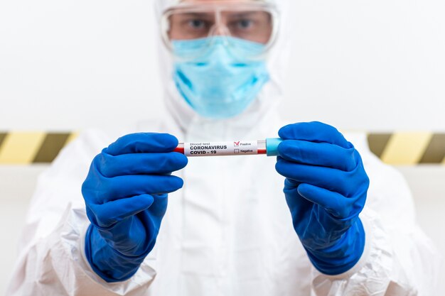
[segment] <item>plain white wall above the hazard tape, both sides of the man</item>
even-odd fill
[[[445,130],[445,1],[291,0],[289,121]],[[156,117],[152,1],[0,0],[0,129]]]

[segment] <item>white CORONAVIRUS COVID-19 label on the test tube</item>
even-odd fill
[[[258,142],[193,142],[184,143],[186,156],[222,156],[222,155],[254,155],[258,154]]]

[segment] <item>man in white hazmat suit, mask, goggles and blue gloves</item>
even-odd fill
[[[436,253],[402,177],[364,136],[280,123],[284,3],[158,11],[168,116],[63,150],[8,295],[432,295]],[[173,152],[277,132],[276,159]]]

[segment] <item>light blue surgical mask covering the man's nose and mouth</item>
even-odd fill
[[[262,52],[261,43],[226,36],[176,40],[173,53],[179,60],[173,80],[182,97],[201,116],[232,117],[242,113],[269,80],[264,60],[249,58]]]

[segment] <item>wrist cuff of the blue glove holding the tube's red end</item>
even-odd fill
[[[85,257],[92,270],[108,283],[122,282],[131,278],[149,251],[139,256],[119,253],[109,246],[92,224],[85,234]]]

